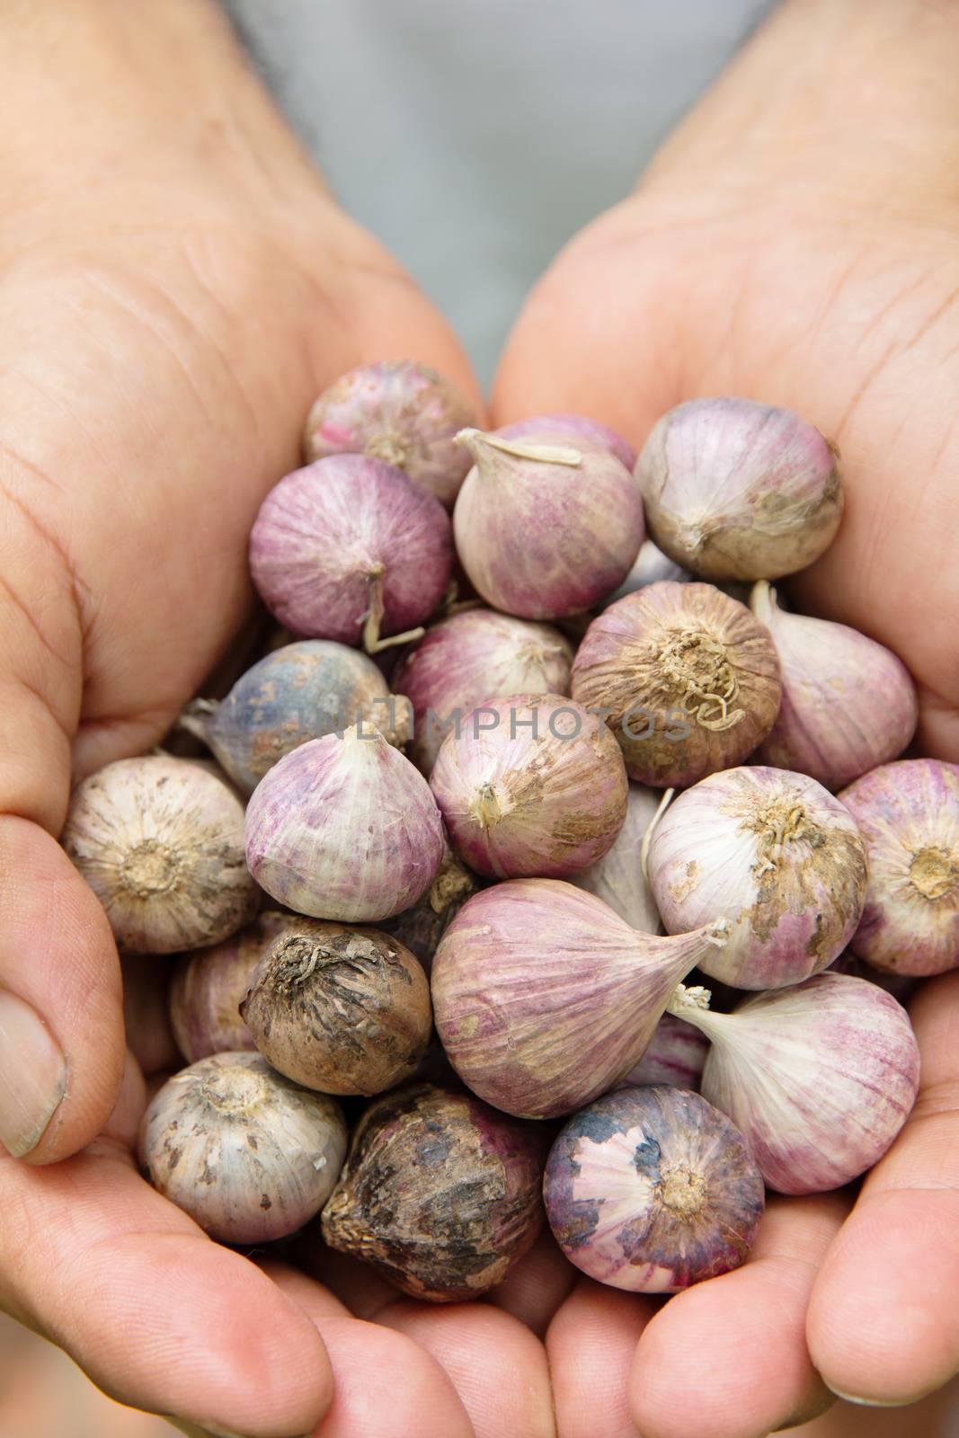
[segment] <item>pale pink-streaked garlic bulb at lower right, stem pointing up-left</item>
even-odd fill
[[[742,1130],[771,1188],[820,1194],[878,1162],[910,1114],[919,1045],[906,1009],[876,984],[817,974],[733,1014],[670,1004],[712,1048],[703,1094]]]

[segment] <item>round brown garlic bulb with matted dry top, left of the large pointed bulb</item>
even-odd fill
[[[279,1073],[321,1093],[382,1093],[433,1028],[421,963],[378,929],[300,919],[269,946],[240,1012]]]

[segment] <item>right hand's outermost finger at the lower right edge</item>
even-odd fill
[[[909,1403],[959,1369],[959,974],[912,1004],[916,1109],[873,1169],[812,1293],[809,1352],[830,1388]]]

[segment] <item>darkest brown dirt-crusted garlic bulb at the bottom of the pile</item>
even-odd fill
[[[354,1133],[324,1238],[416,1299],[476,1299],[542,1227],[546,1143],[543,1129],[456,1089],[390,1093]]]

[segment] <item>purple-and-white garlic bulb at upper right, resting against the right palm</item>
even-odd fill
[[[837,452],[791,410],[689,400],[653,427],[635,463],[659,548],[703,580],[805,569],[843,518]]]

